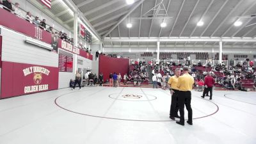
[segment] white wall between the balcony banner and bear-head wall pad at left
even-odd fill
[[[2,61],[58,67],[58,54],[25,42],[26,36],[1,28]]]

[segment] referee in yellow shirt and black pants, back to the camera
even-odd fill
[[[184,125],[184,104],[188,110],[188,124],[193,125],[192,122],[192,108],[191,108],[191,90],[194,84],[194,78],[188,73],[188,67],[183,67],[183,76],[178,78],[177,88],[179,88],[179,111],[180,111],[180,122],[177,124]]]

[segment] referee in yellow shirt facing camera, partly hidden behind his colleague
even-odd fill
[[[178,77],[180,76],[180,68],[175,69],[175,76],[172,76],[168,81],[168,86],[170,88],[170,92],[172,95],[172,102],[170,108],[170,118],[175,120],[176,118],[180,118],[178,115],[179,106],[178,106],[178,95],[179,95],[179,88],[177,88]]]

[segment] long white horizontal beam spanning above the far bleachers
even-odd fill
[[[185,38],[158,38],[158,37],[141,37],[140,39],[138,37],[105,37],[104,42],[256,42],[256,38],[211,38],[211,37],[204,37],[204,38],[198,38],[198,37],[185,37]]]

